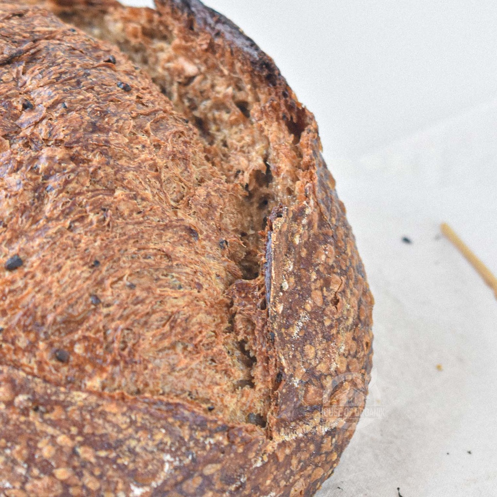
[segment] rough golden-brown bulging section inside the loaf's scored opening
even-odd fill
[[[3,70],[0,256],[24,264],[4,279],[3,354],[77,390],[194,399],[244,421],[258,409],[230,388],[251,377],[225,295],[242,276],[244,190],[144,73],[105,62],[113,47],[17,14],[3,25],[26,48]]]

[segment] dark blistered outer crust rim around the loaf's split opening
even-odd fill
[[[44,6],[59,15],[84,9],[88,18],[123,9],[111,1]],[[32,12],[1,7],[0,23],[16,8]],[[184,399],[78,390],[37,377],[2,348],[0,490],[8,497],[310,496],[331,475],[364,407],[373,299],[314,117],[272,60],[226,18],[194,0],[161,1],[158,11],[179,32],[207,35],[221,64],[250,73],[261,98],[254,120],[274,151],[273,175],[284,175],[278,165],[288,156],[282,126],[300,154],[294,196],[272,209],[263,234],[264,274],[235,278],[227,295],[254,324],[254,351],[271,354],[264,366],[271,383],[265,426],[230,422]],[[143,24],[146,16],[138,10],[136,16]],[[0,64],[13,57],[18,49],[3,49]],[[9,132],[3,127],[0,135]],[[8,152],[1,140],[0,164]],[[347,401],[352,414],[326,409]]]

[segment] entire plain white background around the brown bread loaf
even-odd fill
[[[497,301],[438,229],[497,272],[497,3],[206,3],[315,113],[376,298],[381,409],[318,496],[497,495]]]

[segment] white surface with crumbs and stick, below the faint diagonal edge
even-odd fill
[[[497,269],[496,118],[482,106],[340,166],[376,299],[368,405],[383,412],[320,497],[496,495],[497,301],[438,230],[449,221]]]

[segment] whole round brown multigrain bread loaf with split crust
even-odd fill
[[[1,493],[312,495],[373,304],[312,114],[196,0],[29,3],[0,1]]]

